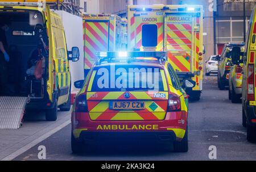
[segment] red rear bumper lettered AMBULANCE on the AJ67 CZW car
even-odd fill
[[[166,136],[169,138],[167,140],[182,140],[186,128],[185,111],[167,112],[164,120],[139,121],[93,121],[89,119],[88,113],[72,112],[72,132],[76,139],[93,135],[93,140],[98,140],[97,137],[101,138],[101,135],[108,133],[130,133],[129,135],[152,135],[158,139]]]

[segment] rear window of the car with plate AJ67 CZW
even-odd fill
[[[91,91],[167,91],[164,70],[154,66],[100,66],[93,73]]]

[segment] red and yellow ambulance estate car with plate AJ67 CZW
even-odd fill
[[[135,141],[135,136],[188,151],[188,95],[165,55],[100,53],[85,82],[76,82],[82,90],[72,111],[74,153],[113,138]],[[195,86],[192,80],[185,84]]]

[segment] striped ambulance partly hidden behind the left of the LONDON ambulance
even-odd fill
[[[96,52],[122,48],[121,18],[114,14],[83,14],[84,75],[97,61]]]

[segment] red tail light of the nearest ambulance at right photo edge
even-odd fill
[[[248,65],[247,99],[254,101],[254,64]]]

